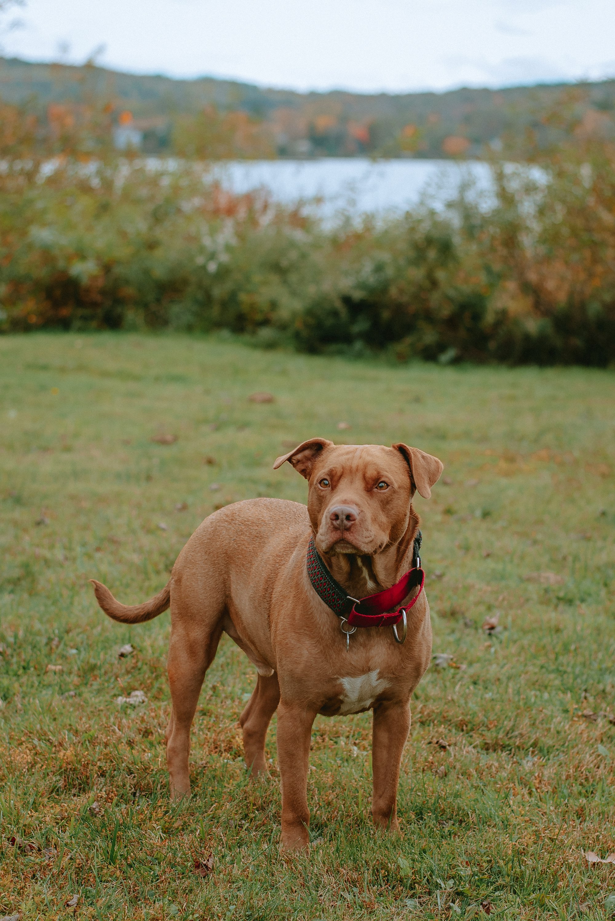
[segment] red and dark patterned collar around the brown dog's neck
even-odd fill
[[[420,547],[420,539],[416,543]],[[414,560],[417,565],[402,576],[400,581],[392,585],[390,589],[384,589],[384,591],[378,591],[376,595],[368,595],[366,598],[357,599],[351,598],[342,589],[340,583],[331,576],[329,569],[324,565],[316,549],[316,544],[312,537],[308,546],[309,580],[313,589],[325,604],[331,608],[331,611],[335,612],[342,620],[347,621],[352,627],[380,627],[387,624],[398,624],[404,612],[409,612],[416,604],[424,587],[425,574],[421,568],[416,543]],[[398,607],[412,589],[417,587],[419,590],[414,598],[403,607]],[[396,611],[390,610],[396,607]]]

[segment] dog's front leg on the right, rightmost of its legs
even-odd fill
[[[383,703],[374,707],[372,815],[374,822],[381,828],[399,828],[397,787],[400,782],[401,752],[409,732],[410,703]]]

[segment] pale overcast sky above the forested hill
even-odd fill
[[[16,17],[7,55],[137,74],[363,91],[615,76],[615,0],[26,0]]]

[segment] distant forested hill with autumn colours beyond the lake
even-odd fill
[[[104,101],[118,117],[132,112],[152,153],[172,149],[174,136],[197,136],[205,111],[210,121],[218,120],[218,133],[241,135],[245,149],[233,142],[239,156],[243,149],[246,156],[476,157],[486,145],[500,146],[508,135],[520,138],[528,128],[544,143],[561,139],[568,122],[552,117],[558,108],[574,118],[577,130],[580,124],[581,130],[607,135],[614,133],[615,113],[615,80],[446,93],[297,93],[212,77],[175,80],[6,58],[0,58],[0,96],[41,112],[50,104]],[[242,114],[224,122],[231,113]],[[203,134],[203,125],[199,130]]]

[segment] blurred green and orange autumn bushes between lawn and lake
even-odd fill
[[[104,109],[0,111],[0,328],[226,329],[400,361],[615,361],[615,146],[493,161],[493,192],[326,226],[201,161],[110,149]]]

